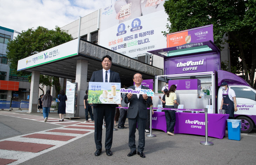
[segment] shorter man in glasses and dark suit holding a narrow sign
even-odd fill
[[[133,75],[133,81],[135,82],[134,86],[129,87],[128,89],[140,90],[140,89],[149,89],[141,85],[143,81],[143,76],[140,73],[136,73]],[[147,121],[147,105],[152,104],[152,99],[148,97],[146,94],[132,94],[129,93],[124,98],[125,103],[130,103],[128,108],[128,122],[129,122],[129,147],[130,153],[127,156],[133,156],[136,154],[136,145],[135,145],[135,132],[136,125],[138,125],[139,130],[139,145],[138,145],[138,155],[140,157],[145,158],[145,154],[143,153],[145,146],[145,129],[146,129],[146,121]]]

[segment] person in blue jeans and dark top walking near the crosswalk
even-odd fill
[[[50,106],[53,102],[53,97],[50,95],[50,90],[48,89],[46,91],[46,94],[41,98],[43,102],[43,118],[45,119],[45,122],[47,122]]]

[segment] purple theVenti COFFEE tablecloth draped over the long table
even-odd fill
[[[203,113],[176,112],[174,133],[188,133],[205,136],[205,115]],[[225,136],[228,114],[208,114],[208,136],[222,139]],[[152,128],[166,130],[164,112],[154,112]]]

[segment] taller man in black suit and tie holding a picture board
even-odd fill
[[[119,74],[110,70],[112,58],[109,55],[102,57],[102,70],[94,71],[90,82],[118,82],[121,83]],[[105,149],[108,156],[112,156],[111,146],[113,140],[114,117],[117,104],[92,104],[94,115],[94,140],[96,144],[95,156],[100,156],[102,151],[102,124],[105,117],[106,139]]]

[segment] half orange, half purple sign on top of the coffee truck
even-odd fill
[[[167,48],[210,40],[213,41],[213,25],[167,34]]]

